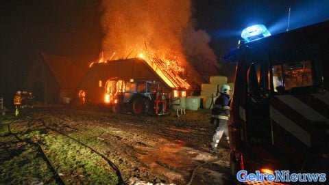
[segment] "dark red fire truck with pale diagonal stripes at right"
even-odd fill
[[[329,175],[329,21],[255,37],[236,62],[230,169]],[[252,38],[251,37],[251,38]]]

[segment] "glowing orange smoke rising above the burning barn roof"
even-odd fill
[[[103,0],[102,10],[106,59],[151,54],[190,76],[193,63],[217,63],[210,36],[195,30],[191,0]]]

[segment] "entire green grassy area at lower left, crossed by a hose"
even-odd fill
[[[18,150],[16,139],[8,135],[8,124],[0,124],[0,149],[4,143],[10,150]],[[30,130],[24,132],[23,127],[16,126],[15,132],[19,137],[42,143],[47,158],[53,163],[66,184],[118,184],[115,171],[97,154],[79,143],[52,132]],[[22,129],[23,128],[23,129]],[[23,134],[24,133],[24,134]],[[97,139],[83,139],[91,147],[101,145]],[[0,150],[0,154],[1,154]],[[56,184],[53,172],[47,163],[32,145],[21,146],[21,151],[11,154],[10,158],[0,155],[0,184]],[[97,150],[99,148],[97,147]],[[8,156],[8,155],[7,155]]]

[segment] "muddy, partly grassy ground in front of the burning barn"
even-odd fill
[[[108,110],[64,107],[21,111],[2,117],[0,184],[59,184],[56,173],[34,145],[39,143],[65,184],[117,184],[116,171],[95,152],[60,134],[86,143],[114,162],[127,184],[236,184],[229,175],[229,150],[209,152],[215,125],[208,111],[186,111],[175,117],[114,114]],[[52,128],[52,129],[50,129]],[[57,132],[58,130],[59,132]]]

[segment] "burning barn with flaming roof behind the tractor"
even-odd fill
[[[93,104],[106,102],[106,89],[114,79],[121,81],[156,81],[166,92],[173,89],[192,90],[195,81],[182,79],[179,72],[164,65],[160,59],[119,59],[91,63],[90,69],[77,87],[77,95]],[[197,74],[199,75],[199,74]],[[197,76],[202,79],[201,76]],[[202,80],[199,81],[202,83]]]

